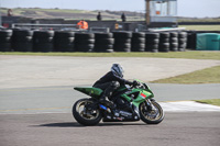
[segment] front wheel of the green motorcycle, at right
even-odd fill
[[[152,101],[152,110],[147,110],[146,104],[144,102],[141,103],[140,117],[147,124],[158,124],[164,120],[164,111],[156,101]]]

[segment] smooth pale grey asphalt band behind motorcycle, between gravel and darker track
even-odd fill
[[[148,83],[158,102],[219,99],[220,85]],[[68,113],[73,104],[88,96],[74,87],[0,89],[0,114]]]

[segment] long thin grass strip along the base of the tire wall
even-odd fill
[[[0,55],[32,55],[32,56],[75,56],[75,57],[157,57],[187,59],[218,59],[220,52],[169,52],[169,53],[19,53],[9,52]]]

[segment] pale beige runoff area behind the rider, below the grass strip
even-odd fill
[[[124,67],[125,79],[143,81],[220,65],[201,59],[0,55],[0,89],[92,85],[114,63]]]

